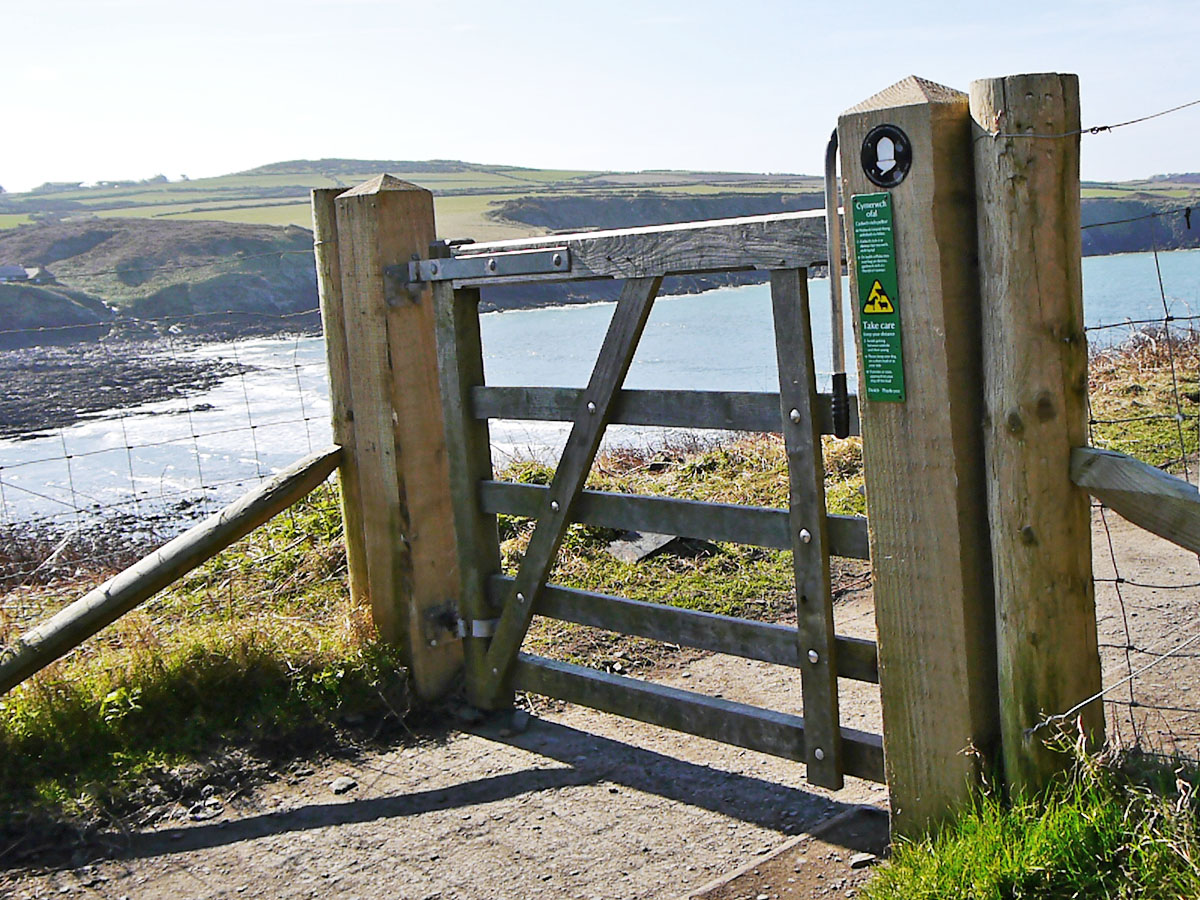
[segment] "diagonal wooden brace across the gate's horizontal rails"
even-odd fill
[[[538,516],[529,546],[521,560],[512,586],[512,598],[504,605],[496,635],[487,649],[487,667],[498,679],[503,679],[516,662],[521,642],[533,618],[538,592],[546,583],[546,576],[554,564],[566,526],[571,521],[571,508],[595,461],[613,401],[634,361],[637,342],[654,306],[654,295],[659,293],[661,284],[662,280],[656,277],[630,278],[617,300],[592,378],[580,400],[566,446],[563,448],[554,479],[545,494],[546,505]]]

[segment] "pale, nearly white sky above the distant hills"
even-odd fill
[[[1085,125],[1200,97],[1195,0],[0,0],[0,185],[298,157],[820,172],[907,74],[1075,72]],[[1200,107],[1086,137],[1085,179],[1200,170]]]

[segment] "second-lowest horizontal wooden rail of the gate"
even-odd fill
[[[500,602],[512,584],[505,575],[493,575],[488,593]],[[624,596],[547,584],[534,612],[560,622],[590,625],[652,641],[677,643],[697,650],[712,650],[742,659],[799,668],[797,630],[788,625],[752,622],[679,606],[649,604]],[[836,637],[838,676],[869,684],[880,683],[875,642],[860,637]]]

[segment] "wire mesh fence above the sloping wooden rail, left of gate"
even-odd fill
[[[257,336],[220,340],[238,320]],[[0,353],[0,643],[329,443],[318,322],[223,311]]]

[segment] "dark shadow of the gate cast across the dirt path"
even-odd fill
[[[499,737],[494,727],[467,730],[475,737],[556,760],[566,768],[527,768],[450,787],[374,797],[349,803],[226,820],[203,826],[106,835],[109,859],[173,856],[260,838],[461,809],[521,794],[608,782],[697,806],[780,833],[796,833],[857,804],[841,803],[764,779],[665,756],[565,725],[534,719],[528,731]],[[430,749],[427,752],[437,752]]]

